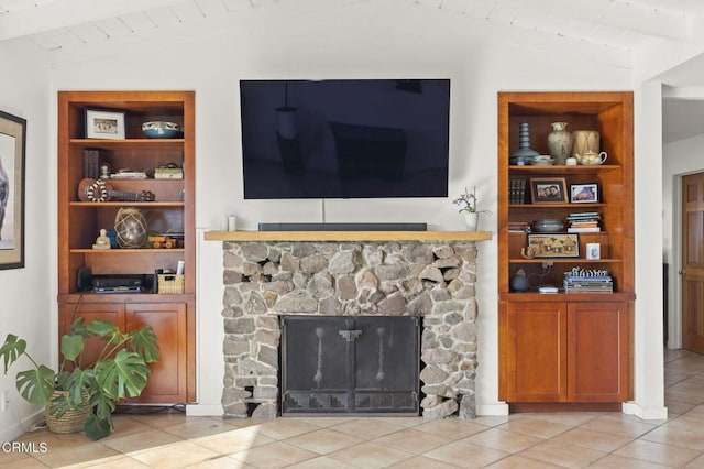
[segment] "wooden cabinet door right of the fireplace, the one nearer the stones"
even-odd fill
[[[562,302],[507,305],[506,401],[566,401],[566,318]]]

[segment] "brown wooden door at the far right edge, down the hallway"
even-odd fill
[[[682,347],[704,355],[704,173],[682,178]]]

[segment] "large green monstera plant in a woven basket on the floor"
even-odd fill
[[[88,340],[101,343],[95,359],[87,357]],[[74,320],[68,334],[62,337],[58,371],[37,363],[28,353],[26,341],[8,334],[0,348],[6,374],[22,356],[33,366],[16,374],[16,389],[22,397],[45,406],[50,429],[52,421],[61,423],[66,415],[85,418],[82,429],[94,440],[110,435],[116,403],[139,396],[151,373],[148,363],[160,360],[151,326],[123,332],[109,320],[94,319],[86,324],[85,318]],[[80,426],[57,432],[76,430]]]

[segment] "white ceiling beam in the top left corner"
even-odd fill
[[[0,14],[0,41],[194,0],[57,0]]]

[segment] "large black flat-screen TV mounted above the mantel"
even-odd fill
[[[241,80],[245,199],[447,197],[449,79]]]

